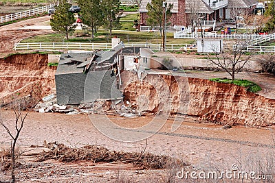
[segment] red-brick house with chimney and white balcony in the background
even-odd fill
[[[191,25],[190,16],[194,13],[202,14],[201,20],[205,21],[231,19],[230,9],[234,7],[243,8],[245,14],[252,14],[257,4],[256,0],[166,0],[166,2],[173,4],[170,26]],[[151,0],[141,0],[140,25],[146,25],[147,3],[151,3]]]

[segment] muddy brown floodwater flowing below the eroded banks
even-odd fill
[[[96,115],[96,114],[94,114]],[[2,111],[5,121],[12,123],[12,111]],[[145,125],[153,117],[122,118],[109,116],[109,119],[129,130]],[[104,123],[104,121],[102,121]],[[72,147],[83,145],[102,145],[117,151],[140,151],[146,145],[146,151],[153,154],[175,156],[192,164],[212,163],[217,166],[229,166],[236,163],[240,156],[245,159],[250,155],[274,150],[273,127],[252,128],[234,126],[223,129],[214,123],[197,123],[194,118],[187,117],[181,126],[171,132],[173,119],[168,119],[157,134],[146,141],[123,143],[114,141],[98,132],[89,117],[84,114],[41,114],[30,112],[19,138],[19,145],[43,145],[44,141],[64,143]],[[8,134],[0,128],[0,145],[10,143]]]

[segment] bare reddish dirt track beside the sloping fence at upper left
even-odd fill
[[[3,25],[0,27],[0,58],[6,56],[8,53],[14,53],[12,49],[14,48],[14,43],[20,42],[24,38],[29,38],[32,36],[37,36],[41,34],[52,33],[52,30],[43,29],[23,29],[22,27],[34,25],[42,21],[50,20],[50,16],[42,16],[35,19],[28,19],[25,21],[20,21],[18,23],[12,23],[10,25]]]

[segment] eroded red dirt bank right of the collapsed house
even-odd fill
[[[147,75],[144,82],[132,73],[124,78],[125,99],[141,110],[146,106],[148,112],[188,114],[230,125],[274,124],[275,99],[250,93],[241,86],[173,75]]]

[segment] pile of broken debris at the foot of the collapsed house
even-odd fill
[[[122,117],[137,117],[143,112],[137,110],[137,106],[126,101],[124,105],[121,99],[98,99],[91,103],[79,105],[58,105],[56,95],[52,94],[43,98],[41,103],[37,103],[34,111],[36,112],[61,112],[65,114],[120,114]]]

